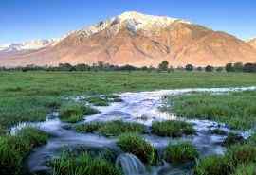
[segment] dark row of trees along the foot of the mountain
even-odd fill
[[[158,67],[155,68],[153,66],[143,66],[136,67],[132,65],[112,65],[109,63],[104,63],[99,61],[98,63],[94,63],[92,65],[80,63],[77,65],[71,65],[70,63],[60,63],[58,66],[37,66],[37,65],[27,65],[24,67],[0,67],[0,71],[157,71],[157,72],[173,72],[174,70],[185,70],[185,71],[205,71],[205,72],[248,72],[253,73],[256,72],[256,63],[245,63],[236,62],[236,63],[228,63],[225,67],[214,67],[211,65],[207,65],[205,67],[194,66],[192,64],[187,64],[185,67],[179,66],[174,68],[169,64],[168,61],[162,61],[159,63]]]

